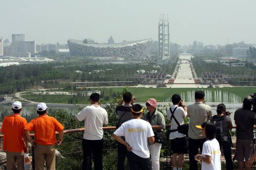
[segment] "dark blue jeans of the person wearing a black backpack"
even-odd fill
[[[231,139],[229,138],[228,141],[218,141],[220,144],[220,150],[223,148],[223,153],[226,160],[226,169],[233,170],[233,162],[231,157]]]

